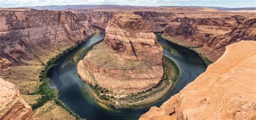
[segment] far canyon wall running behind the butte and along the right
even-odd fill
[[[113,15],[121,11],[99,10],[84,14],[91,25],[105,29]],[[223,55],[225,46],[256,39],[255,13],[203,8],[151,8],[130,12],[142,16],[153,32],[164,31],[165,39],[190,47],[212,62]]]

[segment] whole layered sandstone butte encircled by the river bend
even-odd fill
[[[155,86],[163,76],[163,48],[142,17],[117,13],[107,23],[104,43],[78,62],[86,83],[117,94],[131,94]]]

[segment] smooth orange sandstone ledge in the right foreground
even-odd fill
[[[228,45],[206,72],[143,119],[254,119],[256,41]]]

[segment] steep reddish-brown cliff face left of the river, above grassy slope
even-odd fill
[[[0,53],[17,65],[42,65],[95,33],[82,13],[0,10]]]

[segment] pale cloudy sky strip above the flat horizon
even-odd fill
[[[256,7],[256,0],[0,0],[0,6],[44,5],[134,5],[134,6],[221,6],[226,8]]]

